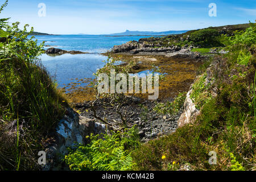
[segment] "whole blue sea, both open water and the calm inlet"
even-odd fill
[[[98,68],[104,67],[108,57],[101,55],[115,45],[120,45],[130,40],[139,40],[150,36],[105,36],[105,35],[37,35],[34,36],[38,44],[45,42],[44,49],[50,47],[66,51],[89,52],[86,54],[59,56],[40,56],[43,66],[57,82],[59,88],[84,78],[94,78],[93,73]],[[80,86],[86,86],[83,82]]]

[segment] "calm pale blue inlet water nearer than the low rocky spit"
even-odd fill
[[[46,54],[42,56],[42,64],[47,71],[56,79],[59,87],[64,87],[74,80],[82,78],[93,78],[93,73],[104,66],[103,60],[106,56],[100,54],[70,55],[51,57]],[[85,86],[82,83],[80,86]]]

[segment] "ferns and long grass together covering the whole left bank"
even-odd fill
[[[19,30],[8,20],[0,19],[0,170],[35,170],[36,151],[68,105],[40,64],[43,44],[28,39],[27,25]]]

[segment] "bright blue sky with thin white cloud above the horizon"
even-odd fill
[[[1,4],[4,2],[0,0]],[[46,5],[45,11],[40,3]],[[210,3],[216,4],[216,16],[209,16]],[[256,1],[9,0],[0,14],[0,18],[7,17],[11,18],[10,23],[30,24],[35,31],[48,34],[195,30],[254,22]]]

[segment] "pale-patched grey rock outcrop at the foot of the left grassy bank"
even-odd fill
[[[60,169],[61,159],[68,154],[67,147],[76,143],[87,144],[86,136],[106,133],[110,128],[93,119],[81,117],[73,109],[67,108],[64,118],[56,127],[55,137],[46,143],[47,164],[43,170]]]

